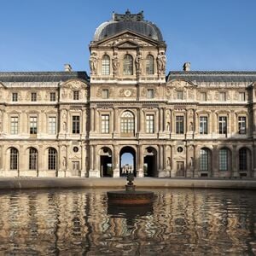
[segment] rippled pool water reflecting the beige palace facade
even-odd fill
[[[0,192],[0,255],[256,255],[255,190],[154,190],[148,207],[106,192]]]

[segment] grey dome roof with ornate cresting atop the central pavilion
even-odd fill
[[[117,15],[113,13],[112,20],[106,21],[97,27],[93,40],[99,41],[125,30],[137,32],[138,34],[152,38],[156,41],[163,41],[160,29],[152,22],[143,20],[143,12],[140,12],[137,15],[131,15],[129,10],[125,12],[125,15]]]

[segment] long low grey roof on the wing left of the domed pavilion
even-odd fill
[[[0,82],[65,82],[69,79],[84,79],[89,82],[86,72],[1,72]]]

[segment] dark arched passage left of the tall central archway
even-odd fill
[[[100,150],[101,157],[101,177],[113,177],[112,151],[103,147]]]

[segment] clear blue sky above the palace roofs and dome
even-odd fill
[[[167,71],[256,70],[255,0],[0,0],[0,72],[89,71],[88,45],[112,12],[144,11],[167,44]]]

